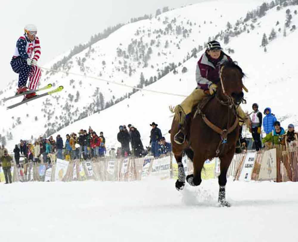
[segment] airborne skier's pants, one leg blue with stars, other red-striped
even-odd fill
[[[10,62],[15,73],[19,74],[18,87],[25,87],[29,77],[29,89],[35,90],[41,78],[41,69],[35,65],[27,65],[27,61],[21,57],[13,58]]]

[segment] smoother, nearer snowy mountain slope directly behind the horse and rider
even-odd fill
[[[292,11],[294,9],[295,7]],[[291,48],[290,54],[280,46],[291,46],[297,40],[298,32],[288,32],[286,37],[283,37],[283,34],[277,34],[277,38],[266,46],[266,53],[260,47],[263,33],[270,33],[277,19],[282,22],[283,18],[284,14],[278,16],[274,10],[268,12],[262,18],[264,27],[260,24],[259,29],[232,38],[225,48],[231,47],[235,50],[231,57],[238,61],[247,75],[244,84],[249,89],[249,93],[245,94],[247,104],[243,105],[243,109],[251,112],[251,106],[254,102],[259,104],[261,112],[269,106],[277,119],[281,121],[282,126],[286,128],[289,123],[298,126],[297,98],[295,95],[298,87],[295,77],[298,71],[294,61],[297,50]],[[296,17],[293,20],[293,24],[295,23],[298,24]],[[243,43],[245,44],[243,45]],[[171,72],[148,88],[188,95],[196,87],[195,67],[197,60],[198,58],[191,58],[176,68],[178,74],[175,75]],[[182,74],[181,70],[184,66],[187,67],[188,71]],[[145,91],[137,92],[130,99],[125,99],[99,114],[77,121],[71,128],[66,127],[58,133],[64,136],[66,133],[77,132],[90,125],[94,130],[105,133],[108,147],[117,147],[119,146],[117,142],[118,126],[131,123],[139,129],[143,143],[148,145],[149,123],[152,121],[158,123],[162,133],[167,134],[172,122],[168,106],[179,104],[182,100],[183,98],[179,96]],[[169,135],[166,138],[169,139]]]

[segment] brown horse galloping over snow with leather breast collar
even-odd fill
[[[185,185],[185,172],[182,164],[183,152],[193,161],[194,172],[186,177],[192,186],[201,184],[201,170],[207,159],[219,157],[221,174],[218,177],[221,206],[229,207],[225,199],[226,174],[232,161],[239,136],[237,105],[243,101],[242,83],[244,74],[235,62],[226,62],[221,66],[220,83],[215,95],[207,97],[193,108],[188,120],[188,140],[182,145],[174,142],[179,123],[174,118],[171,128],[173,153],[178,163],[176,189]]]

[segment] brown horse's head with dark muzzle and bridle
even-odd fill
[[[235,104],[240,104],[243,100],[242,78],[244,77],[242,69],[236,62],[226,61],[221,66],[220,78],[221,78],[221,94],[224,96],[230,96],[233,98]]]

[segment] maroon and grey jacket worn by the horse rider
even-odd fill
[[[198,88],[208,90],[211,84],[218,84],[220,65],[227,60],[232,61],[231,57],[224,54],[224,52],[222,53],[223,57],[216,66],[208,60],[206,53],[202,54],[195,70],[195,80],[198,83]]]

